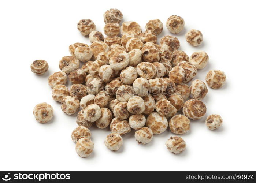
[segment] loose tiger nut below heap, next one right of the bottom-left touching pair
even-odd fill
[[[112,133],[105,138],[105,146],[110,150],[118,150],[123,145],[123,138],[121,135]]]

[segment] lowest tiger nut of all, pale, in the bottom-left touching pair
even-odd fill
[[[91,139],[81,138],[77,141],[77,144],[75,145],[75,151],[80,157],[84,158],[92,154],[93,147],[94,144]]]

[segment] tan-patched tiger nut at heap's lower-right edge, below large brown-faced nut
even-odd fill
[[[170,119],[169,127],[174,134],[185,134],[190,129],[190,120],[184,115],[175,115]]]

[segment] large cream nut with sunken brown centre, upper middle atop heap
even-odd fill
[[[109,62],[113,70],[122,70],[129,64],[130,58],[125,51],[119,51],[113,55]]]

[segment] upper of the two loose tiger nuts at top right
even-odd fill
[[[166,21],[166,27],[172,34],[180,33],[185,26],[183,18],[177,15],[170,16]]]

